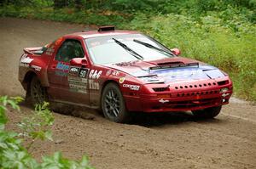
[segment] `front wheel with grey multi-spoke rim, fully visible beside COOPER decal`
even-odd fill
[[[124,123],[131,118],[130,113],[125,108],[125,101],[119,86],[115,83],[108,83],[102,93],[102,112],[110,121]]]

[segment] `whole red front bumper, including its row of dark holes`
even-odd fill
[[[201,84],[202,87],[196,88],[194,86],[184,88],[187,86],[179,84],[177,90],[169,92],[140,94],[139,96],[125,95],[126,108],[131,111],[168,112],[202,110],[229,103],[232,94],[230,80],[221,86],[217,82],[216,85],[207,87],[203,86],[205,82]],[[183,88],[180,88],[181,86]]]

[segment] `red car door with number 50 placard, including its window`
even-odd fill
[[[85,59],[82,44],[79,39],[65,39],[49,63],[49,87],[52,98],[57,101],[88,104],[88,69],[82,65],[70,65],[71,59]]]

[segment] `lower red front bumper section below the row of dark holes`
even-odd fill
[[[143,112],[170,112],[186,110],[202,110],[209,107],[216,107],[228,104],[232,91],[220,93],[219,90],[205,91],[198,93],[183,93],[177,97],[162,98],[158,95],[155,98],[125,96],[126,108],[130,111]],[[170,94],[172,96],[172,94]],[[163,95],[166,97],[166,94]]]

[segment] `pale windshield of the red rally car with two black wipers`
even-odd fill
[[[160,50],[156,50],[155,48],[149,48],[148,45],[143,45],[134,40],[148,43],[155,48],[166,51],[166,53],[160,52]],[[154,41],[151,37],[142,34],[92,37],[85,39],[85,43],[89,50],[90,58],[96,65],[129,62],[138,60],[139,58],[143,58],[143,60],[154,60],[172,57],[169,49],[165,48],[159,42]]]

